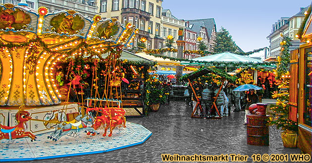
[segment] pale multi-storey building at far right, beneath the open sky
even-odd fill
[[[296,34],[298,33],[301,23],[304,20],[305,12],[308,8],[309,6],[301,7],[297,14],[292,17],[281,17],[280,20],[272,25],[271,34],[267,37],[270,40],[270,52],[266,58],[279,56],[281,50],[280,42],[283,39],[280,34],[283,34],[283,36],[287,36],[292,40],[291,46],[289,47],[290,51],[299,48],[301,43],[300,40],[296,38]]]

